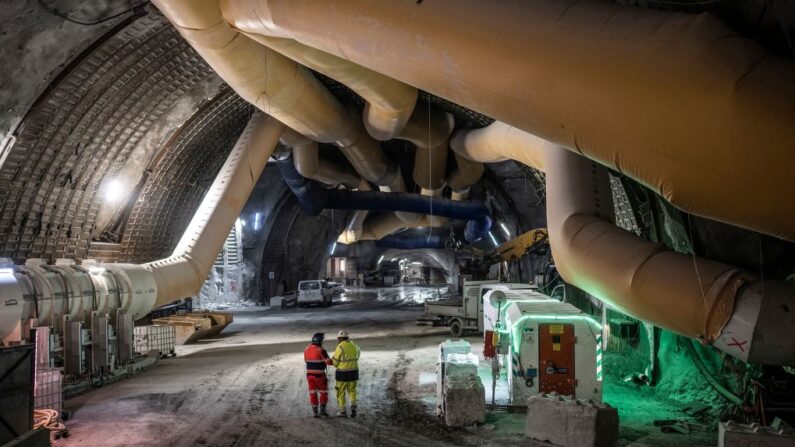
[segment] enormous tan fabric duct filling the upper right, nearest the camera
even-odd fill
[[[247,32],[532,132],[688,213],[795,241],[795,182],[782,181],[795,166],[795,62],[708,14],[581,0],[224,6]]]

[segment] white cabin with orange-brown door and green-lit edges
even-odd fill
[[[602,327],[576,307],[556,300],[509,302],[499,329],[510,364],[512,405],[556,392],[602,400]]]

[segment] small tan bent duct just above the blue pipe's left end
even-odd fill
[[[292,148],[295,169],[302,176],[328,185],[341,183],[349,189],[359,186],[361,178],[350,166],[338,165],[320,158],[317,142],[292,129],[285,130],[280,141]]]

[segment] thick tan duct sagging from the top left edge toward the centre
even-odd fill
[[[180,34],[243,99],[308,138],[336,143],[367,180],[403,191],[400,169],[306,68],[231,28],[219,0],[154,0]]]

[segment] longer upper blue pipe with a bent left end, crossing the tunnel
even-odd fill
[[[464,229],[464,237],[472,243],[486,237],[491,229],[489,209],[479,202],[426,197],[411,193],[323,189],[315,182],[304,178],[295,169],[292,156],[279,160],[277,166],[287,187],[310,216],[316,216],[324,209],[337,209],[402,211],[450,219],[466,219],[469,222]]]

